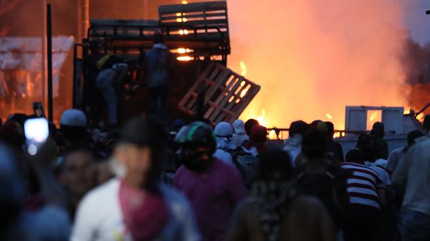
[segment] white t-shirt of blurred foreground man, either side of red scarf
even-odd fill
[[[113,178],[89,192],[78,206],[72,241],[133,240],[125,229],[119,204],[120,180]],[[160,186],[171,220],[156,240],[201,240],[187,199],[171,187]]]

